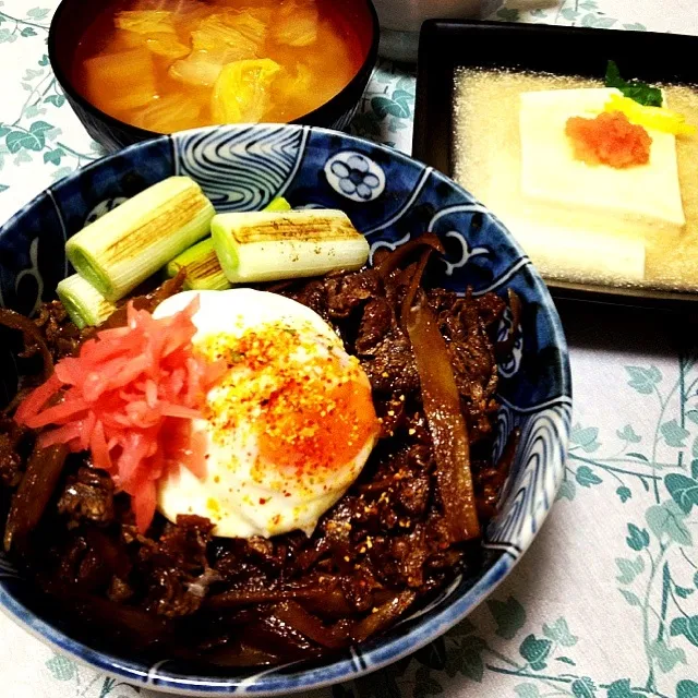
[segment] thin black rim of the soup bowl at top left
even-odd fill
[[[67,71],[63,71],[60,61],[58,60],[58,43],[59,43],[59,31],[58,23],[60,19],[63,16],[63,13],[69,12],[69,4],[73,0],[61,0],[58,8],[53,12],[51,17],[51,24],[48,29],[48,38],[47,38],[47,53],[49,64],[51,70],[53,71],[53,75],[58,81],[59,85],[65,93],[65,95],[76,103],[82,109],[84,109],[87,113],[89,113],[93,118],[98,118],[100,121],[104,121],[109,129],[119,129],[121,131],[131,132],[137,137],[139,142],[141,141],[149,141],[153,139],[157,139],[163,135],[172,135],[171,133],[159,133],[158,131],[151,131],[148,129],[143,129],[141,127],[136,127],[128,121],[121,121],[121,119],[117,119],[108,115],[106,111],[99,109],[96,105],[94,105],[89,99],[87,99],[74,85],[73,80],[68,74]],[[344,98],[347,93],[351,93],[353,89],[358,89],[359,86],[368,81],[373,72],[373,69],[376,64],[378,58],[378,44],[381,40],[381,25],[378,23],[378,13],[375,9],[375,4],[373,0],[352,0],[354,2],[362,2],[366,10],[369,11],[370,22],[371,22],[371,36],[370,36],[370,46],[366,51],[366,57],[364,61],[361,63],[353,77],[333,97],[330,97],[327,101],[322,105],[315,107],[312,111],[300,116],[298,119],[293,121],[282,122],[286,124],[303,124],[305,122],[315,123],[318,120],[322,121],[323,117],[326,112],[332,111],[338,104],[339,100]],[[237,125],[237,124],[209,124],[206,127],[200,127],[202,129],[210,129],[218,128],[221,125]],[[317,127],[321,128],[321,127]],[[195,129],[188,129],[195,130]],[[183,133],[183,131],[176,131],[174,133]]]

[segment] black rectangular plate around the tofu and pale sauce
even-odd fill
[[[412,156],[449,177],[458,68],[505,68],[603,79],[607,61],[646,82],[698,84],[698,37],[544,24],[430,20],[419,45]],[[485,202],[486,203],[486,202]],[[496,214],[496,210],[494,212]],[[556,298],[677,309],[698,289],[658,291],[547,281]]]

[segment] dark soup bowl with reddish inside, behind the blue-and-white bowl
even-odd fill
[[[172,4],[177,4],[171,0]],[[244,4],[244,3],[242,3]],[[167,3],[165,3],[165,8]],[[51,67],[65,93],[70,105],[89,133],[108,152],[146,141],[160,132],[134,125],[98,108],[80,88],[76,80],[80,50],[86,33],[96,22],[105,21],[105,13],[111,8],[130,9],[129,0],[63,0],[51,22],[48,36],[48,55]],[[342,0],[333,2],[336,25],[351,36],[354,50],[360,53],[360,63],[351,80],[326,103],[308,113],[290,121],[337,131],[346,130],[354,116],[361,96],[369,83],[378,52],[378,19],[371,0]],[[109,91],[109,84],[104,86]],[[184,85],[182,89],[186,89]],[[201,124],[192,123],[186,128]]]

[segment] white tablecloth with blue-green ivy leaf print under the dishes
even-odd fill
[[[0,1],[1,219],[99,157],[48,65],[58,0],[36,1]],[[496,19],[698,34],[698,0],[532,1],[509,0]],[[352,130],[409,151],[413,104],[412,73],[382,63]],[[313,698],[698,698],[696,327],[615,308],[561,312],[575,428],[559,501],[533,546],[445,637]],[[5,617],[0,695],[156,697],[55,654]]]

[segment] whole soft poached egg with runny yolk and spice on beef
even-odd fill
[[[377,440],[369,378],[320,315],[276,293],[184,291],[153,315],[177,313],[195,296],[194,348],[227,370],[193,424],[205,438],[206,474],[171,469],[158,508],[170,521],[206,517],[219,537],[310,535]]]

